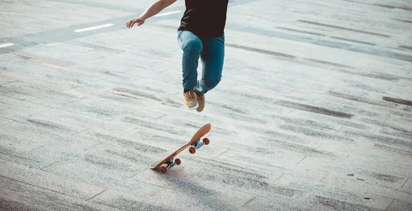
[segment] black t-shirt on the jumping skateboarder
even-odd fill
[[[186,10],[178,30],[199,37],[220,37],[226,25],[229,0],[185,0]]]

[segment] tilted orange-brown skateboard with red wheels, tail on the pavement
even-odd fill
[[[203,138],[202,141],[201,138],[205,136],[207,133],[209,133],[210,129],[211,125],[209,123],[203,125],[203,127],[201,127],[201,129],[198,129],[196,134],[193,135],[192,139],[190,139],[190,141],[187,142],[187,144],[183,145],[182,147],[171,153],[165,159],[151,164],[150,169],[157,169],[159,166],[165,164],[166,166],[161,166],[160,171],[161,173],[166,173],[168,169],[170,169],[175,164],[180,165],[181,160],[179,158],[174,159],[174,157],[177,156],[177,154],[181,153],[181,151],[185,150],[187,147],[190,147],[189,152],[191,154],[194,154],[196,153],[196,149],[199,149],[203,145],[209,145],[209,138]]]

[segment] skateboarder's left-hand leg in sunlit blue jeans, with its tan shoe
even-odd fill
[[[197,108],[198,102],[194,89],[196,89],[198,60],[203,51],[203,44],[196,35],[189,31],[179,31],[178,42],[183,50],[182,76],[185,105],[187,108]]]

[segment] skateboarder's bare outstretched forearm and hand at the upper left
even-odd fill
[[[158,14],[161,10],[163,10],[164,8],[167,8],[175,1],[177,0],[157,0],[155,1],[155,3],[152,3],[152,5],[150,5],[150,7],[146,9],[146,11],[144,11],[140,16],[127,21],[126,27],[131,28],[133,27],[133,25],[135,25],[135,23],[137,23],[137,26],[142,25],[147,18],[150,18],[151,16]]]

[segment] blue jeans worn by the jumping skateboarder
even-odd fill
[[[215,88],[222,77],[225,57],[225,35],[219,38],[199,38],[189,31],[178,31],[179,47],[183,50],[183,89],[196,87],[195,92],[204,94]],[[202,61],[202,77],[198,78],[198,60]]]

